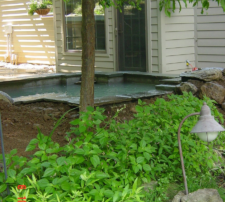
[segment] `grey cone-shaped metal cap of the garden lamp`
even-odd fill
[[[207,132],[219,132],[225,131],[225,129],[215,121],[214,117],[211,115],[210,108],[204,102],[199,121],[192,128],[191,133],[207,133]]]

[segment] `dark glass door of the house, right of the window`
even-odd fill
[[[118,11],[119,71],[146,72],[145,1],[141,10],[125,4]]]

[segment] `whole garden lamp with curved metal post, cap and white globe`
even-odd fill
[[[183,154],[182,154],[182,148],[181,148],[181,141],[180,141],[180,130],[184,123],[184,121],[190,117],[200,115],[198,123],[193,127],[191,130],[191,133],[197,133],[198,137],[206,142],[211,142],[214,139],[216,139],[218,133],[220,131],[225,131],[225,129],[218,124],[214,117],[211,116],[211,111],[208,105],[204,102],[201,112],[196,112],[187,115],[180,123],[178,128],[178,144],[179,144],[179,152],[180,152],[180,161],[181,161],[181,167],[183,172],[183,179],[184,179],[184,187],[185,187],[185,193],[188,194],[188,187],[187,187],[187,180],[186,180],[186,174],[184,169],[184,160],[183,160]]]

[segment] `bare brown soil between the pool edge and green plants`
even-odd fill
[[[167,96],[155,96],[144,101],[154,103],[157,97],[168,99]],[[130,120],[135,113],[136,102],[126,102],[117,105],[103,106],[105,115],[111,118],[117,111],[126,105],[126,108],[119,114],[118,120]],[[23,105],[11,105],[5,101],[0,101],[0,112],[2,121],[2,131],[4,138],[5,153],[9,153],[12,149],[17,149],[19,156],[29,156],[34,151],[25,152],[30,140],[37,137],[40,128],[44,135],[49,135],[53,130],[59,118],[69,109],[73,107],[63,103],[53,102],[35,102]],[[79,110],[75,109],[69,112],[61,125],[54,131],[52,139],[58,142],[60,146],[67,143],[65,140],[66,132],[70,130],[70,121],[78,118]],[[0,151],[1,145],[0,145]]]

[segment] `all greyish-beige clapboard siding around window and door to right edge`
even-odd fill
[[[176,9],[167,17],[158,8],[159,0],[150,1],[148,25],[148,71],[152,73],[179,74],[190,71],[186,66],[189,60],[193,66],[225,67],[225,14],[221,7],[211,2],[211,8],[201,15],[201,8],[193,8],[183,2],[182,10]],[[179,8],[179,5],[177,5]],[[54,1],[55,35],[59,72],[81,70],[81,51],[64,51],[62,0]],[[106,52],[96,51],[96,71],[116,71],[115,11],[109,8],[105,13]],[[150,34],[150,36],[149,36]]]

